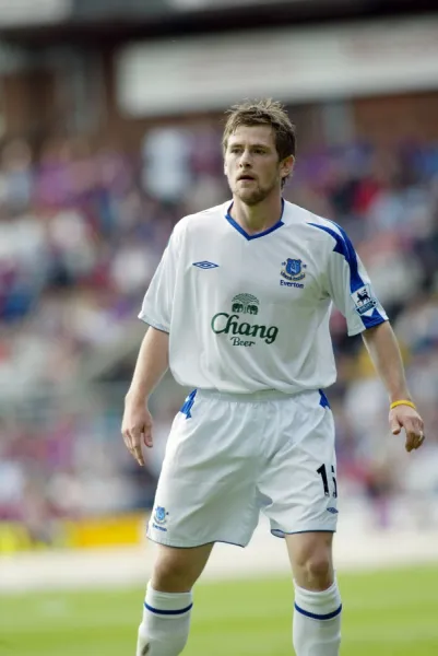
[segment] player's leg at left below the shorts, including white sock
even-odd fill
[[[206,565],[213,544],[192,549],[158,546],[139,628],[137,656],[177,656],[186,646],[191,589]]]

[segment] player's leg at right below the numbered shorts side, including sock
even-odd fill
[[[293,640],[297,656],[339,656],[341,596],[331,532],[286,536],[295,584]]]

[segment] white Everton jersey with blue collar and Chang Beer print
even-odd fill
[[[296,394],[336,377],[332,302],[348,335],[387,320],[344,231],[289,202],[248,235],[232,201],[177,223],[139,317],[169,333],[169,367],[188,387]]]

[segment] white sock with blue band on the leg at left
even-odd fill
[[[189,637],[192,594],[157,593],[147,585],[137,656],[178,656]]]

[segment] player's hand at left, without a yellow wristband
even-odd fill
[[[127,397],[121,434],[128,450],[142,467],[144,467],[142,442],[149,448],[153,446],[152,425],[152,417],[145,402]]]

